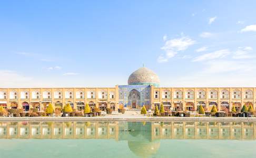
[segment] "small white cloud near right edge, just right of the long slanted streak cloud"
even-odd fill
[[[234,59],[248,59],[255,58],[255,55],[251,55],[249,52],[252,51],[252,47],[238,47],[238,50],[234,52]]]

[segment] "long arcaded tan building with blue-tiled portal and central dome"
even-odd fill
[[[4,108],[38,108],[51,103],[55,107],[70,104],[77,111],[88,103],[92,108],[125,108],[147,110],[163,104],[165,110],[195,111],[202,105],[206,111],[215,105],[219,111],[238,111],[243,105],[255,109],[255,87],[160,87],[160,78],[152,70],[141,67],[128,78],[127,85],[76,88],[0,88],[0,106]]]

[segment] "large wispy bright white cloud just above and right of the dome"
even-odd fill
[[[165,63],[169,61],[169,58],[174,57],[178,52],[186,50],[189,46],[195,44],[195,41],[187,36],[181,38],[174,38],[172,40],[165,41],[161,50],[165,51],[165,54],[161,54],[157,58],[157,62]]]

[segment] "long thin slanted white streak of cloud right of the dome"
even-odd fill
[[[229,54],[231,54],[231,52],[228,49],[219,50],[219,51],[215,51],[212,53],[206,53],[206,54],[200,55],[198,57],[195,57],[192,61],[200,62],[200,61],[214,60],[217,58],[223,58]]]

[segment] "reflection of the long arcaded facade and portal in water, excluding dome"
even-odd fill
[[[2,139],[245,139],[256,138],[248,122],[1,122]]]

